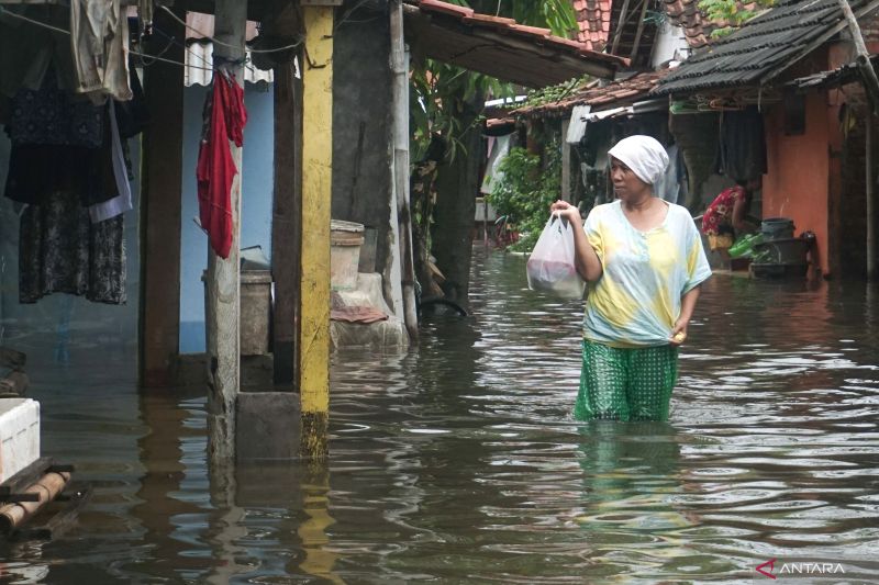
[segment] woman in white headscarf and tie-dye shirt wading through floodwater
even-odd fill
[[[663,145],[630,136],[608,156],[616,201],[594,207],[585,226],[577,207],[552,206],[575,226],[577,270],[590,283],[574,415],[666,420],[678,346],[711,269],[690,212],[653,194],[668,165]]]

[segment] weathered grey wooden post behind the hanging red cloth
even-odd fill
[[[214,55],[243,59],[244,34],[247,22],[246,0],[216,0]],[[235,47],[235,48],[233,48]],[[216,59],[214,59],[216,61]],[[244,68],[232,69],[238,85],[244,85]],[[214,74],[218,75],[218,74]],[[211,362],[212,389],[208,395],[210,429],[209,453],[214,464],[225,464],[235,458],[235,400],[238,394],[241,356],[238,351],[240,318],[240,239],[242,149],[230,143],[232,160],[238,172],[232,182],[232,247],[225,260],[208,250],[208,358]]]

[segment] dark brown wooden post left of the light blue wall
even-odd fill
[[[181,24],[165,11],[156,26],[183,38]],[[164,46],[164,44],[163,44]],[[164,56],[183,60],[183,48]],[[156,61],[145,68],[144,91],[152,114],[143,136],[141,173],[140,382],[174,385],[174,358],[180,349],[180,218],[183,177],[183,69]]]

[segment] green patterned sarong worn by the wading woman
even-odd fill
[[[668,420],[678,379],[678,348],[671,345],[615,348],[583,339],[578,420]]]

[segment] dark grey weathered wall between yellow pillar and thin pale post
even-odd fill
[[[356,4],[355,4],[356,5]],[[346,5],[346,8],[349,8]],[[376,272],[388,261],[391,175],[390,31],[382,12],[357,10],[333,48],[333,218],[377,233]],[[308,139],[308,137],[305,137]]]

